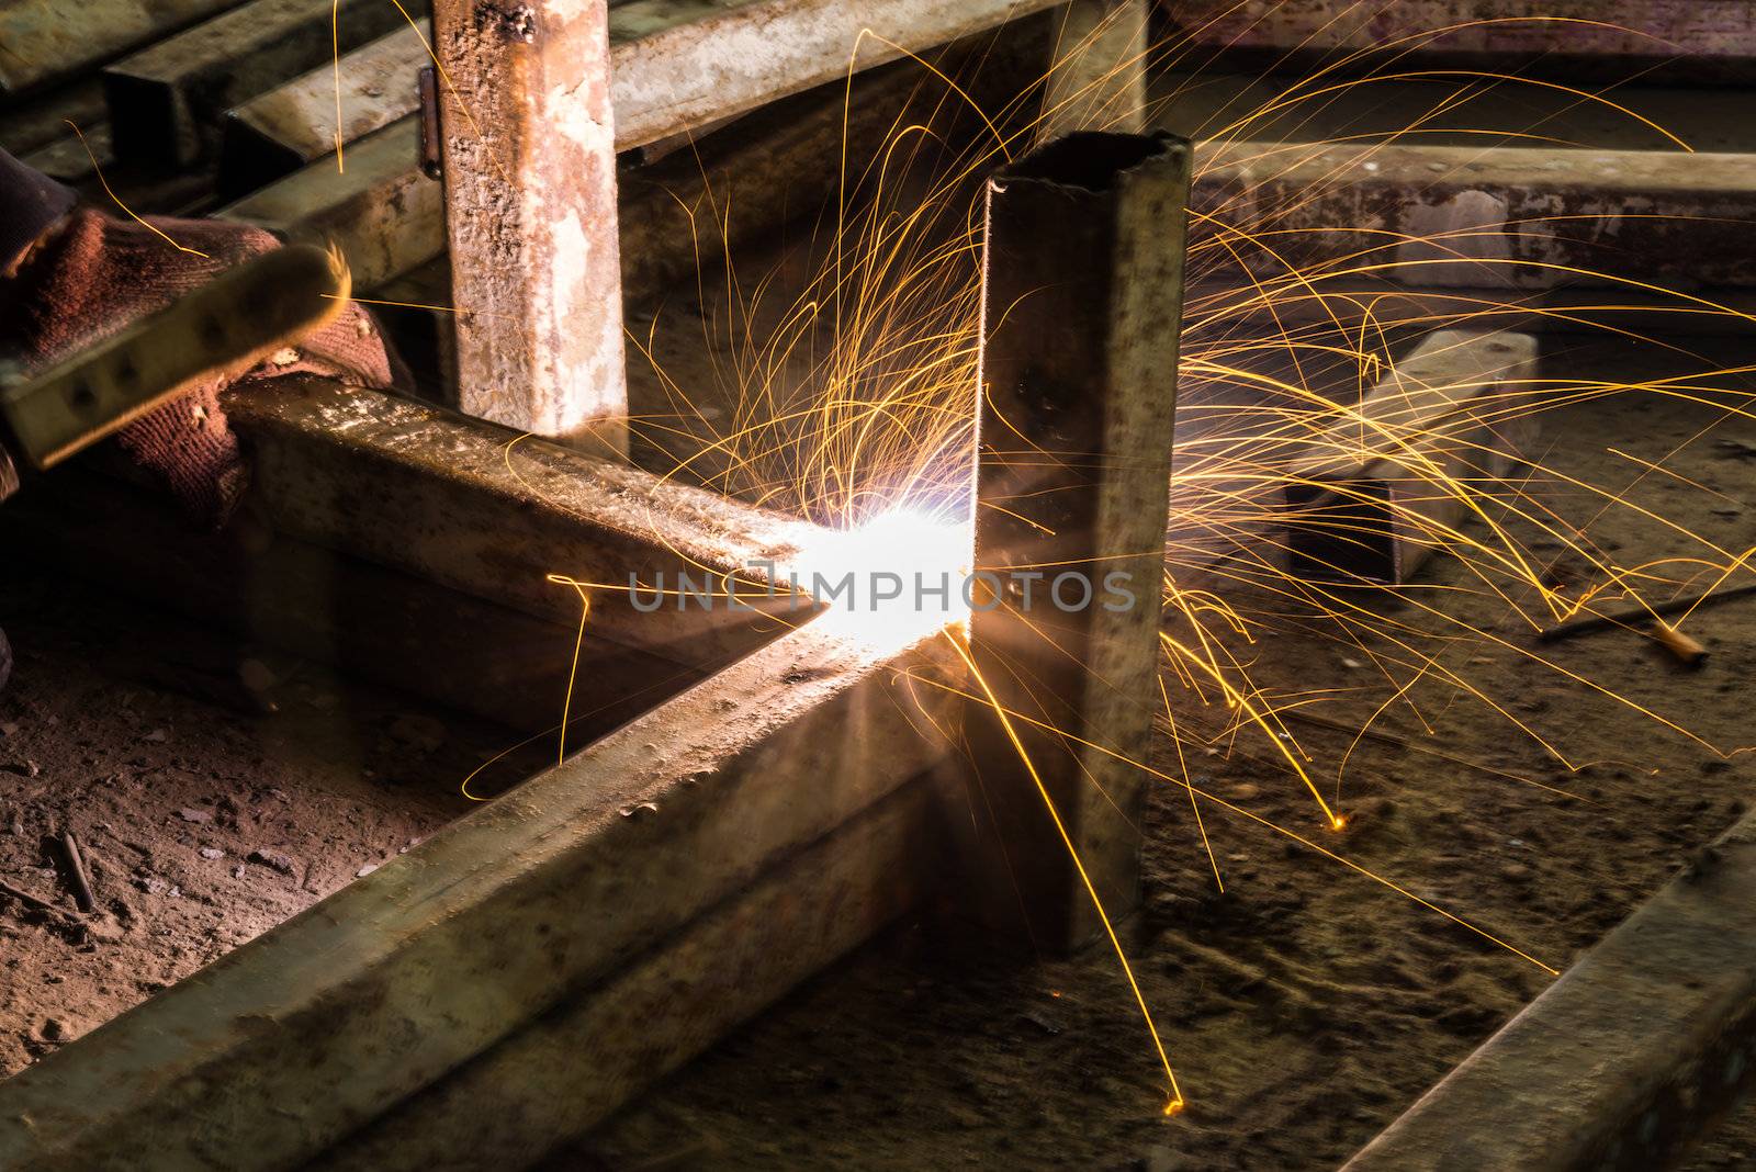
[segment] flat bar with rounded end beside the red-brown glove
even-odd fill
[[[348,305],[337,253],[291,244],[46,370],[0,361],[0,500],[19,481],[212,379],[235,377],[321,330]]]

